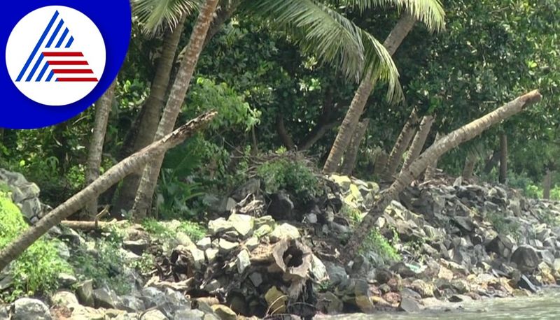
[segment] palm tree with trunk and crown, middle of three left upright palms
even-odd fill
[[[123,156],[141,150],[152,143],[165,106],[165,94],[186,17],[193,14],[200,0],[132,0],[134,20],[146,36],[163,36],[161,55],[155,67],[150,94],[138,115],[132,143]],[[123,181],[115,201],[116,212],[130,210],[140,184],[142,171],[132,173]]]

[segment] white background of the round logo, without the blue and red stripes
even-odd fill
[[[43,41],[39,52],[83,52],[83,57],[68,57],[67,59],[87,60],[89,66],[81,67],[91,68],[93,74],[84,76],[87,76],[88,78],[94,77],[97,78],[97,80],[101,79],[106,62],[105,43],[101,32],[99,32],[99,29],[97,29],[92,20],[83,13],[80,13],[80,11],[66,6],[45,6],[27,14],[22,18],[22,20],[20,20],[20,22],[18,22],[18,24],[16,24],[10,34],[10,37],[8,38],[8,43],[6,45],[6,66],[8,68],[10,78],[22,94],[25,94],[25,96],[33,101],[47,106],[65,106],[70,103],[80,101],[87,96],[87,94],[90,94],[90,92],[92,92],[99,83],[56,82],[54,80],[57,75],[55,75],[51,82],[45,82],[44,80],[48,74],[43,76],[43,80],[41,82],[35,82],[36,76],[43,67],[42,64],[36,71],[32,80],[30,82],[25,82],[27,75],[39,57],[39,54],[36,54],[36,57],[34,57],[33,61],[31,61],[31,64],[22,80],[20,82],[15,82],[56,10],[59,12],[59,17],[50,29],[45,41]],[[45,43],[52,35],[61,18],[64,20],[64,27],[68,27],[69,29],[69,36],[71,35],[74,38],[71,48],[64,49],[64,45],[62,45],[63,48],[44,49]],[[58,41],[62,31],[64,31],[64,27],[55,39],[55,43]],[[69,36],[66,38],[69,38]],[[65,43],[66,41],[64,41],[64,44]],[[54,47],[54,45],[52,45],[52,47]],[[48,58],[45,57],[43,61],[47,59]]]

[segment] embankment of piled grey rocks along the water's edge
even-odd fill
[[[174,231],[168,238],[120,224],[126,259],[153,254],[156,261],[142,276],[119,266],[116,272],[130,274],[130,293],[65,277],[61,291],[43,301],[16,300],[0,309],[0,319],[419,312],[526,296],[560,279],[560,203],[461,180],[412,186],[377,220],[362,254],[344,266],[338,259],[344,242],[380,191],[374,182],[351,177],[323,182],[324,195],[311,201],[283,191],[265,194],[258,180],[220,201],[209,197],[221,217],[209,221],[199,240],[176,230],[176,221],[166,224]],[[92,235],[60,228],[52,236],[87,243]]]

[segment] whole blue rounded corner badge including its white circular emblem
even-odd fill
[[[128,0],[36,2],[10,5],[0,21],[3,128],[36,129],[83,112],[109,88],[128,50]]]

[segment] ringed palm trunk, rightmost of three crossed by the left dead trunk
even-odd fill
[[[204,6],[200,8],[200,13],[195,27],[193,28],[193,33],[190,35],[185,56],[177,72],[171,92],[169,92],[169,99],[163,111],[160,124],[158,125],[158,131],[155,134],[156,139],[171,132],[175,126],[217,5],[218,0],[207,0]],[[158,183],[158,176],[160,175],[160,168],[164,156],[165,154],[160,154],[158,157],[155,157],[153,162],[149,163],[144,169],[136,198],[134,198],[134,205],[132,206],[132,213],[137,220],[144,219],[148,210],[151,208],[153,193]]]

